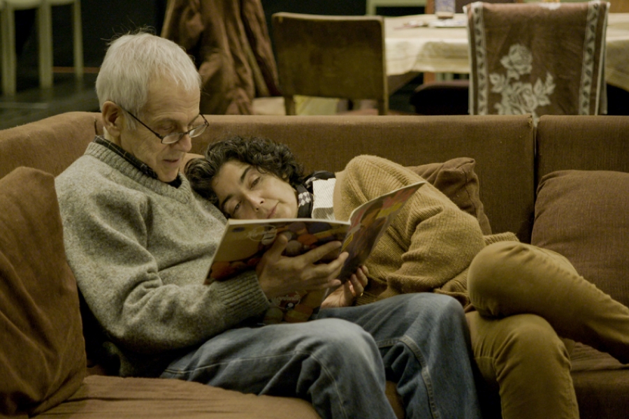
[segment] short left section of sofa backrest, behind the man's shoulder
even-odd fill
[[[94,125],[96,124],[96,125]],[[101,114],[66,112],[0,131],[0,177],[20,166],[59,175],[85,152],[97,130]]]

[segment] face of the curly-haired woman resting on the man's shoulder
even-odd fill
[[[230,160],[212,179],[219,209],[234,219],[276,219],[297,216],[296,191],[286,181],[254,166]]]

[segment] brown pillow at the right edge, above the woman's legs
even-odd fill
[[[561,170],[537,187],[531,243],[629,305],[629,173]]]

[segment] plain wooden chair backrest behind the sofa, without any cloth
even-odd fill
[[[275,13],[273,40],[287,115],[294,95],[375,99],[388,112],[382,16]]]

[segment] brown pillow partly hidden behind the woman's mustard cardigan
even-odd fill
[[[474,166],[474,159],[458,157],[445,163],[429,163],[410,169],[433,184],[461,210],[475,216],[483,234],[489,235],[491,226],[480,200],[478,176]]]

